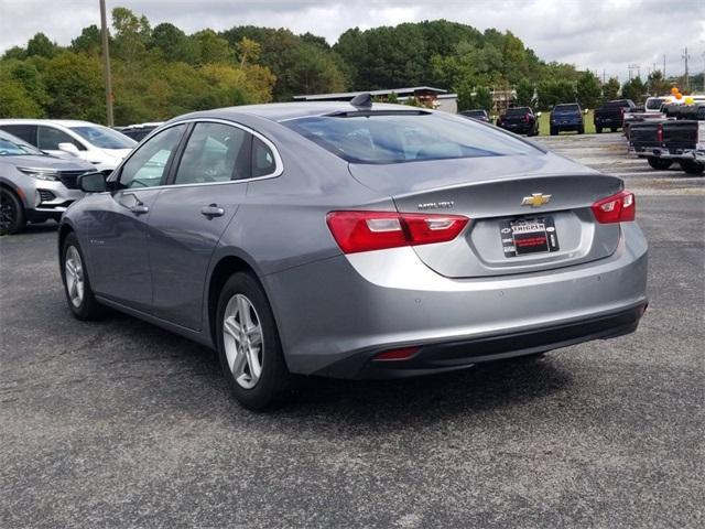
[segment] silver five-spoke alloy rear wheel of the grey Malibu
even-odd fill
[[[260,317],[242,294],[228,301],[223,315],[223,342],[230,373],[245,389],[252,389],[262,375],[264,341]]]

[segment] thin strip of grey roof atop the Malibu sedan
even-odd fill
[[[354,107],[348,101],[302,101],[302,102],[269,102],[264,105],[242,105],[239,107],[226,107],[217,108],[214,110],[203,110],[199,112],[193,112],[185,116],[174,118],[174,120],[182,120],[185,118],[224,118],[235,119],[242,115],[256,116],[271,121],[286,121],[290,119],[307,118],[313,116],[325,116],[327,114],[334,114],[339,111],[355,111],[359,108]],[[424,110],[432,111],[425,108],[410,107],[408,105],[392,105],[387,102],[375,102],[371,107],[372,111],[376,110],[406,110],[409,112]]]

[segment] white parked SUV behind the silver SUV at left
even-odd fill
[[[69,119],[0,119],[0,130],[59,158],[78,158],[112,171],[137,145],[117,130]]]

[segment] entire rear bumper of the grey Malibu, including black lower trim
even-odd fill
[[[316,261],[263,284],[293,373],[410,376],[631,332],[647,303],[647,261],[643,234],[627,223],[610,257],[556,270],[451,279],[397,248]],[[375,355],[402,347],[419,348],[410,368],[395,360],[370,370]]]

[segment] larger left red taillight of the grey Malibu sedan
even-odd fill
[[[460,215],[330,212],[328,228],[345,253],[453,240],[467,225]]]

